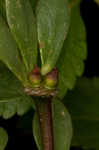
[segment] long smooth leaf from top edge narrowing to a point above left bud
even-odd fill
[[[7,20],[28,72],[37,63],[37,31],[29,0],[6,0]]]

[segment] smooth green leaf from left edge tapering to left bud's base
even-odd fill
[[[13,40],[8,26],[0,16],[0,60],[26,84],[26,73],[23,63],[20,60],[16,42]]]

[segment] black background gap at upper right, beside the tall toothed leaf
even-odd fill
[[[99,76],[99,7],[92,0],[83,0],[81,14],[86,26],[88,43],[88,56],[85,61],[84,76]]]

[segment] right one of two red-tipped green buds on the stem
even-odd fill
[[[44,86],[48,89],[55,89],[58,81],[58,71],[54,68],[51,72],[49,72],[44,79]]]

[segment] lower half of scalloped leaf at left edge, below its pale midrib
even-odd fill
[[[34,101],[29,96],[16,97],[12,101],[7,99],[7,102],[2,101],[0,103],[0,116],[4,119],[9,119],[16,113],[22,116],[34,107]]]

